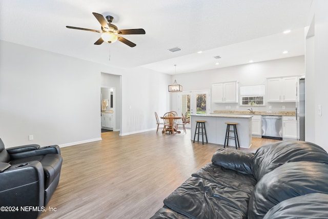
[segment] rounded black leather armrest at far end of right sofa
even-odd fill
[[[221,148],[214,153],[212,163],[240,173],[253,174],[253,157],[252,152]]]

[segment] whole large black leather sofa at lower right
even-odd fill
[[[328,218],[328,154],[282,141],[256,153],[222,148],[151,218]]]

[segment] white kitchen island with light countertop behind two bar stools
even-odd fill
[[[238,114],[216,114],[210,115],[190,115],[191,117],[191,140],[194,140],[196,120],[206,121],[206,133],[209,143],[224,144],[227,124],[225,122],[238,123],[237,132],[241,148],[250,148],[252,145],[252,115]],[[201,138],[201,136],[200,136]],[[205,138],[205,136],[204,136]],[[197,140],[197,136],[196,136]],[[204,140],[206,141],[206,140]],[[230,140],[229,146],[235,146],[235,142]]]

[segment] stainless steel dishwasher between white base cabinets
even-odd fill
[[[281,116],[262,115],[262,138],[282,140]]]

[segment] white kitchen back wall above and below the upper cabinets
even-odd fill
[[[238,81],[239,86],[265,85],[267,77],[304,75],[304,72],[304,56],[296,56],[201,72],[176,74],[172,76],[171,81],[176,79],[183,86],[183,91],[210,90],[214,83]],[[172,94],[171,97],[172,108],[176,109],[177,95]],[[239,105],[239,103],[212,104],[211,111],[227,110],[226,106],[230,106],[230,110],[247,110],[250,108]],[[269,109],[269,106],[272,109]],[[282,109],[282,106],[285,109]],[[295,111],[295,103],[267,103],[265,107],[252,108],[256,111]]]

